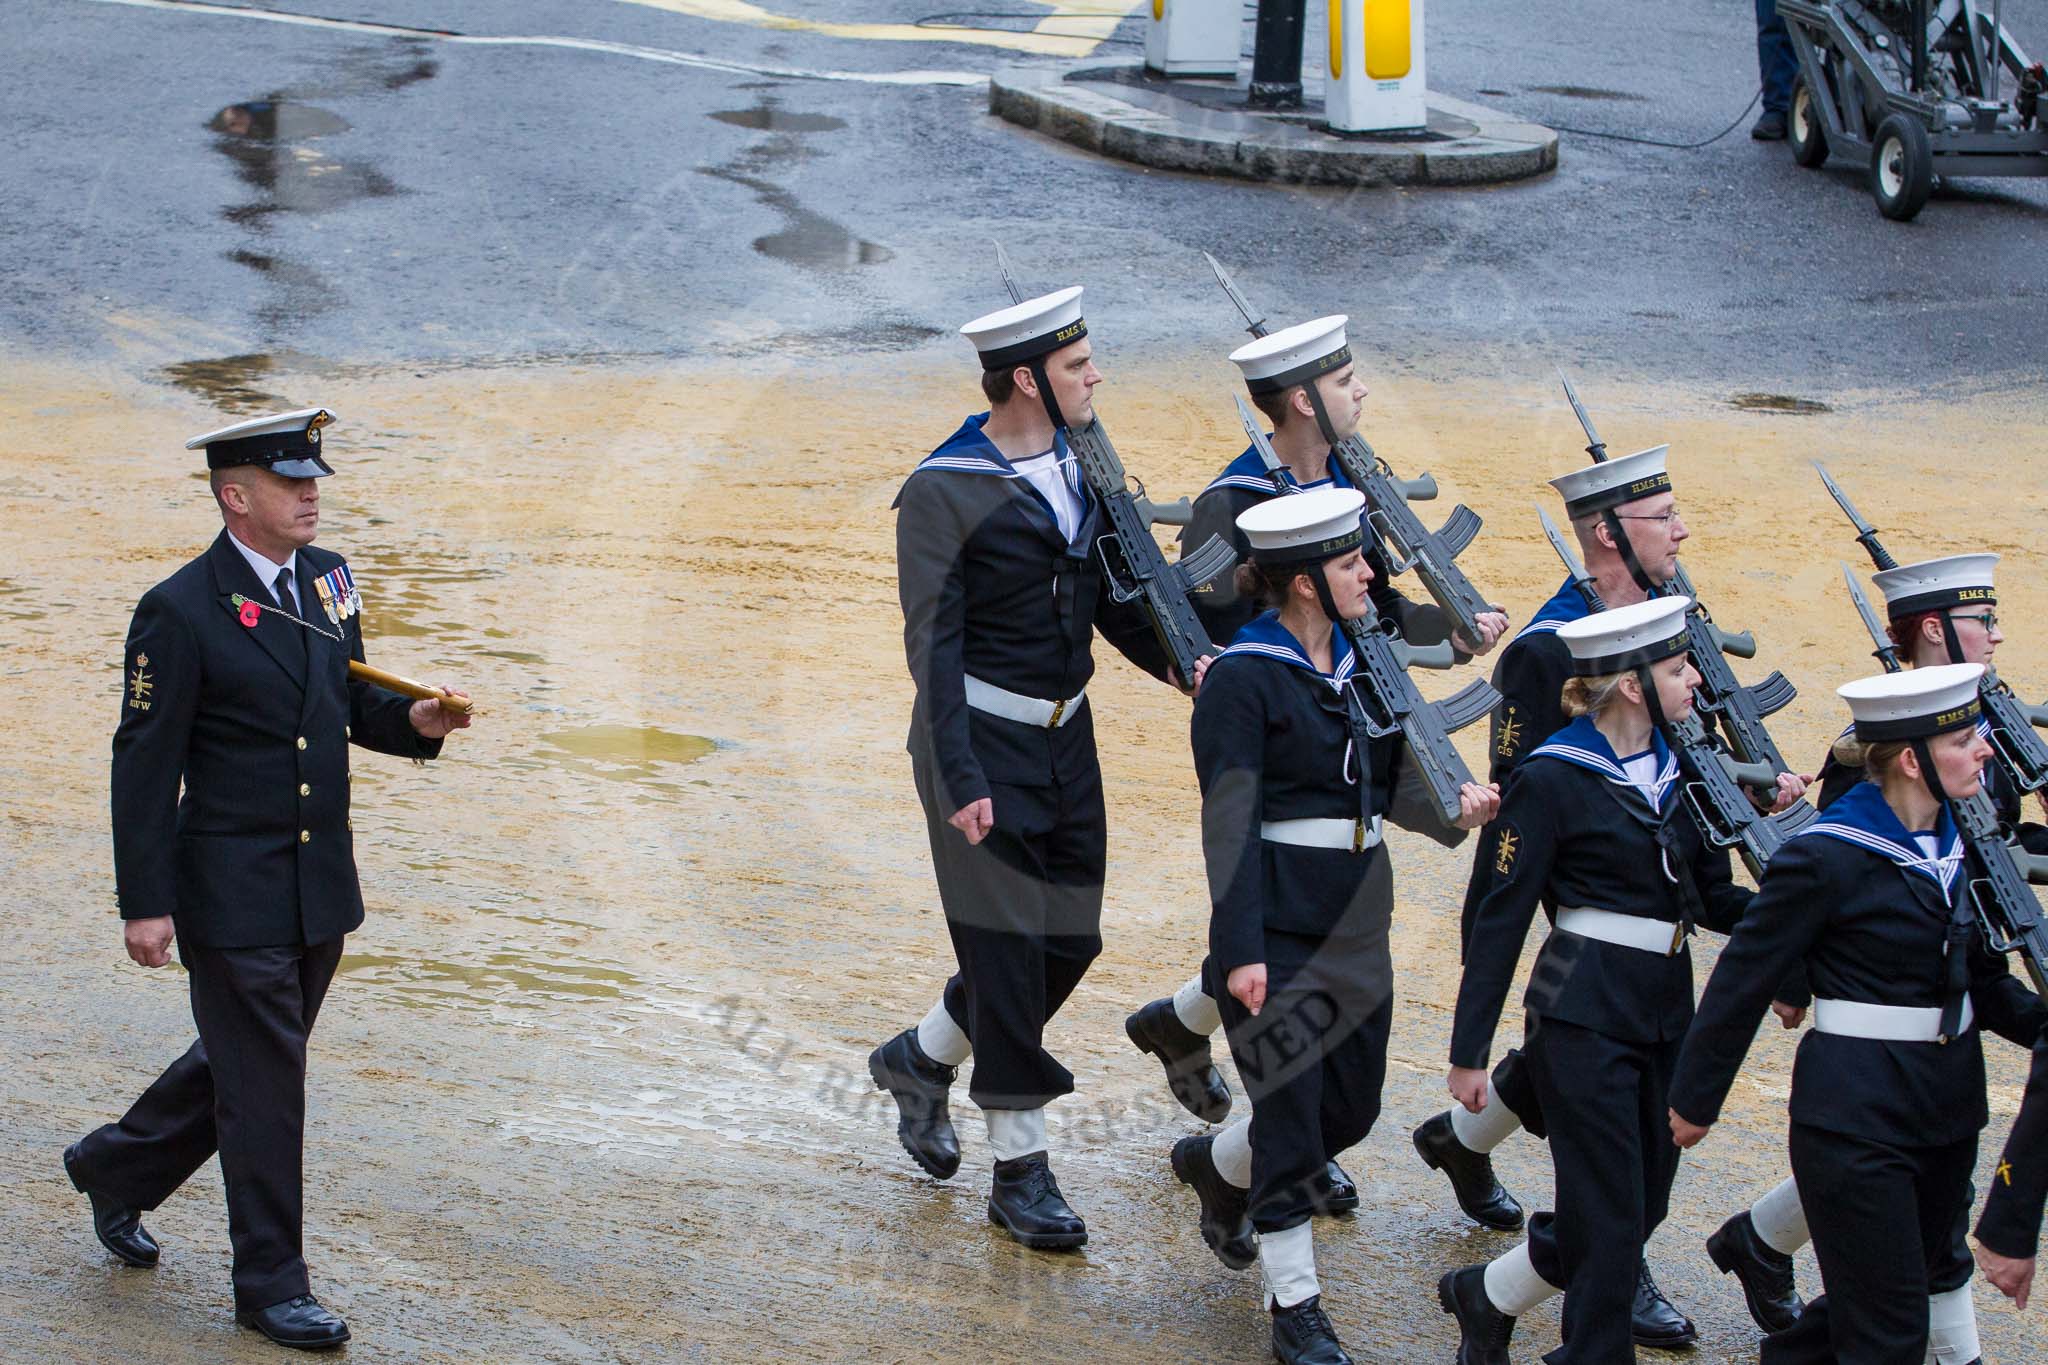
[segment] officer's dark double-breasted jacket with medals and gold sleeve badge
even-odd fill
[[[297,557],[299,616],[340,555]],[[135,608],[113,757],[115,894],[123,919],[172,915],[197,948],[326,943],[362,923],[348,823],[348,745],[434,757],[412,702],[348,679],[362,618],[324,639],[242,596],[274,598],[223,530]],[[178,784],[184,794],[178,794]]]

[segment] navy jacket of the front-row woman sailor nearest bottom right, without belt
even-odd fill
[[[1823,999],[1948,1003],[1954,898],[1966,894],[1970,874],[1946,810],[1935,835],[1935,857],[1925,857],[1884,794],[1864,782],[1778,849],[1679,1054],[1671,1083],[1679,1115],[1694,1124],[1720,1117],[1774,982],[1800,962]],[[1794,1124],[1901,1146],[1939,1146],[1982,1130],[1980,1027],[2028,1044],[2040,1033],[2042,1005],[2013,980],[2005,958],[1982,950],[1974,927],[1960,933],[1972,1025],[1948,1044],[1808,1029],[1792,1070]]]

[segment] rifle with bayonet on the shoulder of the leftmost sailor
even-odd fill
[[[1010,256],[1001,244],[995,248],[995,264],[1004,274],[1010,301],[1024,303],[1024,291],[1018,289],[1016,276],[1010,272]],[[1116,446],[1110,444],[1110,434],[1102,430],[1100,417],[1092,417],[1079,428],[1069,426],[1067,450],[1073,452],[1081,477],[1102,501],[1102,512],[1110,522],[1110,534],[1096,540],[1108,593],[1116,602],[1141,600],[1145,604],[1153,634],[1159,636],[1161,649],[1174,661],[1180,684],[1192,688],[1196,661],[1217,653],[1217,647],[1208,639],[1202,618],[1194,614],[1188,593],[1235,565],[1237,551],[1223,536],[1210,536],[1192,553],[1182,555],[1178,565],[1167,563],[1151,526],[1153,522],[1186,526],[1190,520],[1188,499],[1159,505],[1145,497],[1145,485],[1124,473],[1124,463],[1116,456]],[[1118,563],[1110,561],[1104,540],[1116,542],[1120,569]]]

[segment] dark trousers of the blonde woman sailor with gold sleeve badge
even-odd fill
[[[1681,1042],[1624,1042],[1559,1019],[1530,1033],[1556,1169],[1556,1212],[1530,1220],[1530,1265],[1565,1287],[1565,1345],[1544,1357],[1550,1365],[1636,1359],[1636,1263],[1677,1175],[1667,1097]]]

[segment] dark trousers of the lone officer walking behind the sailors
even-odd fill
[[[141,1093],[119,1124],[78,1144],[80,1183],[154,1209],[213,1156],[227,1185],[236,1310],[309,1291],[303,1257],[305,1040],[342,960],[311,948],[193,948],[199,1042]]]

